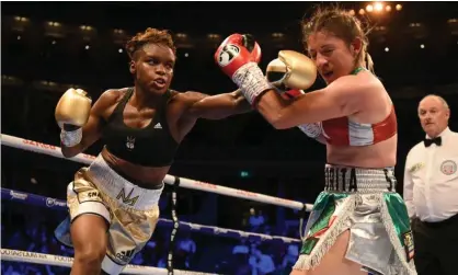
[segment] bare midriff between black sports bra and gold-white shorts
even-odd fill
[[[170,165],[153,168],[134,164],[117,158],[106,148],[103,148],[102,157],[114,171],[128,177],[126,180],[134,181],[134,184],[142,188],[160,188],[163,184],[162,181],[170,169]]]

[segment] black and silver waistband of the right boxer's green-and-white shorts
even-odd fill
[[[396,192],[394,168],[368,169],[327,164],[324,191],[370,194]]]

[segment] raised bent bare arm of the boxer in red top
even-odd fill
[[[275,128],[286,129],[355,114],[380,85],[377,81],[360,81],[355,76],[347,76],[322,90],[299,95],[293,102],[268,90],[257,99],[256,108]]]

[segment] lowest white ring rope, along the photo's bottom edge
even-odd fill
[[[22,251],[22,250],[10,250],[10,249],[1,249],[1,261],[21,262],[21,263],[31,263],[31,264],[44,264],[44,265],[64,266],[64,267],[71,267],[73,263],[73,259],[69,256],[43,254],[43,253],[28,252],[28,251]],[[173,270],[173,273],[178,275],[211,274],[211,273],[180,271],[180,270]],[[146,275],[164,274],[165,275],[168,274],[168,271],[165,268],[129,264],[126,266],[126,268],[124,268],[122,274],[146,274]]]

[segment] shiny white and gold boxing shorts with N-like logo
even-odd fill
[[[102,262],[107,274],[119,274],[150,240],[159,219],[160,190],[141,188],[108,167],[101,154],[81,168],[67,187],[70,217],[56,229],[56,237],[71,247],[70,224],[84,214],[103,217],[108,245]]]

